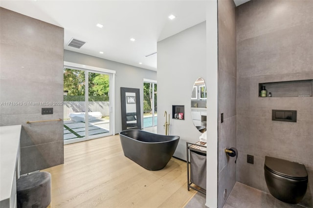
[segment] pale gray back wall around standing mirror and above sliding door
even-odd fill
[[[139,88],[140,110],[143,116],[143,79],[156,80],[156,71],[113,62],[73,51],[64,50],[64,61],[116,71],[115,74],[115,133],[122,130],[121,87]],[[141,122],[142,124],[142,122]]]

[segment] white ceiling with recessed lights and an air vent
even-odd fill
[[[235,0],[236,6],[247,0]],[[1,0],[64,28],[64,49],[156,71],[156,43],[206,20],[206,0]],[[176,16],[170,20],[170,15]],[[96,26],[103,25],[102,28]],[[86,42],[68,46],[74,38]],[[135,41],[130,39],[134,38]],[[103,52],[100,54],[100,52]]]

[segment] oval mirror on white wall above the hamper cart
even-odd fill
[[[191,117],[196,128],[206,131],[206,86],[202,78],[194,83],[191,93]]]

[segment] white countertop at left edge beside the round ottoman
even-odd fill
[[[9,199],[13,186],[22,125],[0,126],[0,201]]]

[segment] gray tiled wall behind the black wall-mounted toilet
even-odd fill
[[[236,10],[237,181],[268,192],[266,155],[303,163],[306,207],[313,207],[313,97],[259,98],[258,83],[313,79],[312,11],[312,0],[251,0]],[[297,110],[297,122],[271,121],[272,109]]]

